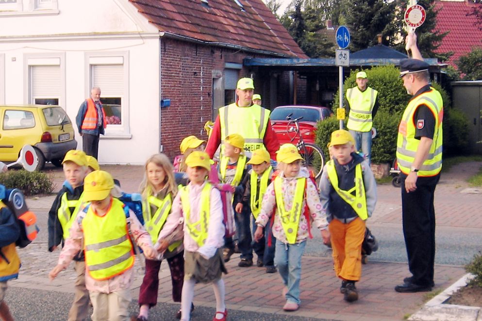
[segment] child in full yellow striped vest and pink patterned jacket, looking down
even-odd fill
[[[80,250],[84,251],[85,286],[94,309],[93,321],[130,320],[133,242],[147,258],[157,255],[149,233],[133,211],[113,197],[119,196],[117,193],[109,173],[99,170],[85,177],[83,200],[90,204],[73,222],[57,266],[49,273],[53,280]]]

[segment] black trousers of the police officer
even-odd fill
[[[433,195],[440,174],[418,177],[416,191],[405,191],[406,175],[401,178],[403,235],[407,248],[408,267],[414,283],[431,286],[435,259],[435,209]]]

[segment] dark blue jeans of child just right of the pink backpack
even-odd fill
[[[235,205],[233,205],[235,207]],[[250,217],[249,205],[243,204],[241,213],[234,211],[234,223],[236,223],[236,234],[238,236],[238,249],[241,251],[241,258],[253,259],[253,248],[251,247],[251,227],[249,226]],[[224,246],[234,249],[233,238],[224,238]]]

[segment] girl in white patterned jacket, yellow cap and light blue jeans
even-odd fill
[[[269,184],[263,197],[261,212],[256,220],[255,241],[263,236],[263,228],[272,215],[273,234],[276,237],[274,262],[283,279],[285,311],[299,308],[299,282],[301,278],[301,256],[306,239],[311,237],[311,221],[321,230],[323,242],[328,243],[330,233],[325,211],[321,207],[316,186],[293,144],[283,144],[276,160],[280,174]]]

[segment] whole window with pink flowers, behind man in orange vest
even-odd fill
[[[100,102],[104,107],[106,136],[129,136],[129,81],[128,53],[87,54],[90,89],[100,88]]]

